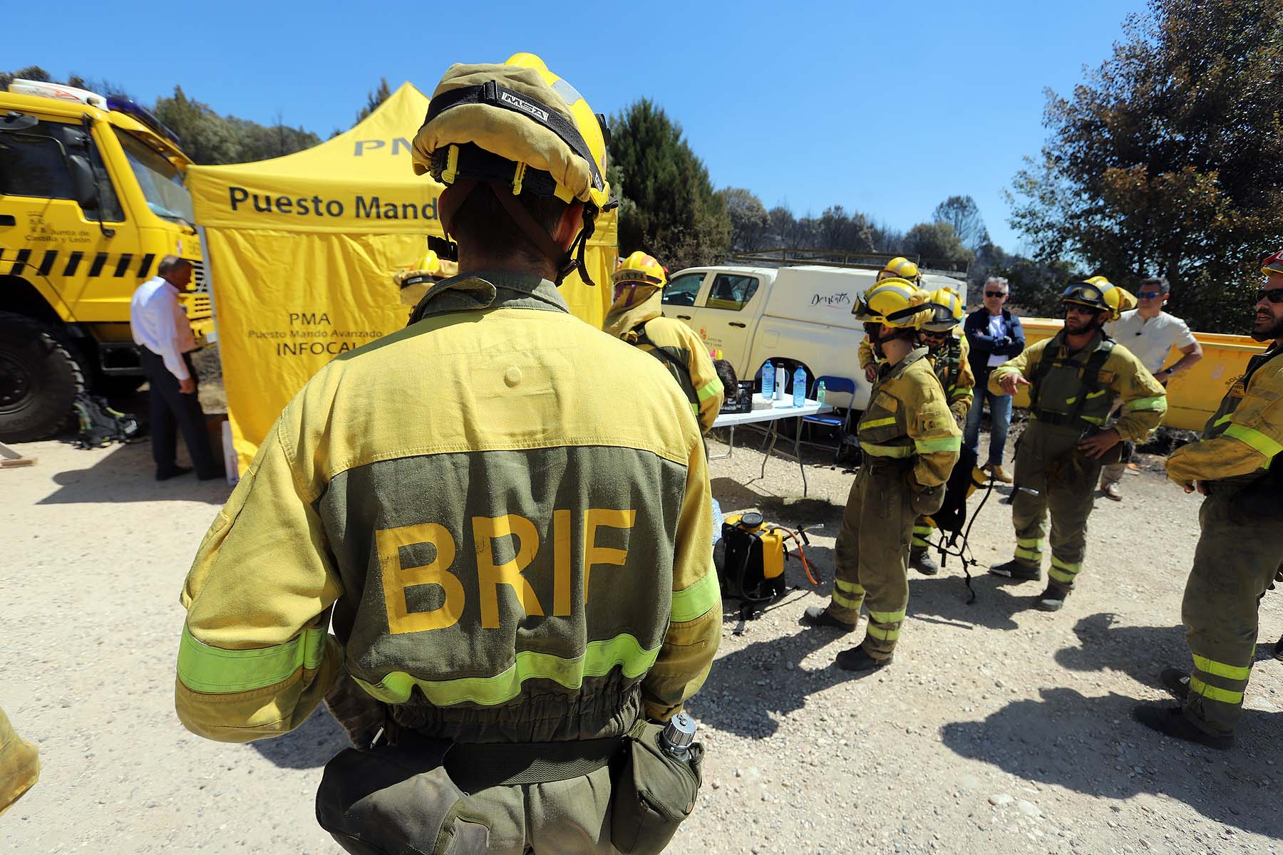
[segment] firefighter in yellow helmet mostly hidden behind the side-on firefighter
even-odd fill
[[[919,340],[926,347],[926,358],[935,369],[935,376],[944,388],[949,411],[958,428],[966,422],[971,409],[971,396],[975,388],[975,374],[967,361],[966,336],[960,335],[958,324],[965,317],[965,306],[958,292],[949,287],[931,291],[931,318],[922,324]],[[969,469],[975,461],[962,459],[960,465]],[[908,550],[908,565],[924,576],[935,576],[940,567],[928,551],[928,538],[935,532],[930,517],[919,517],[913,523],[913,542]]]

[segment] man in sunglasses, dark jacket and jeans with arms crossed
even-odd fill
[[[1006,309],[1011,296],[1007,281],[990,276],[984,282],[984,308],[967,315],[962,324],[971,351],[967,356],[971,373],[975,374],[975,397],[966,415],[966,428],[962,442],[979,458],[980,418],[984,415],[984,403],[989,401],[989,456],[981,467],[998,481],[1011,483],[1011,476],[1002,468],[1002,455],[1007,445],[1007,429],[1011,427],[1011,395],[993,392],[988,388],[989,373],[1015,359],[1025,349],[1025,331],[1020,318]]]

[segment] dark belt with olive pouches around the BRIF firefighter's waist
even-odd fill
[[[491,818],[473,793],[570,781],[611,767],[611,842],[625,854],[662,852],[694,810],[703,746],[677,759],[663,728],[644,719],[624,736],[572,742],[463,743],[413,732],[368,751],[346,749],[325,767],[317,822],[348,852],[490,851]]]

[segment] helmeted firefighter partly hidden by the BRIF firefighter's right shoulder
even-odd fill
[[[636,250],[612,277],[615,300],[604,329],[663,363],[704,433],[712,429],[724,397],[721,379],[699,335],[672,318],[663,317],[663,286],[668,276],[652,256]]]

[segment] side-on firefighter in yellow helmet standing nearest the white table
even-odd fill
[[[931,319],[930,295],[912,282],[885,278],[856,304],[879,359],[878,378],[857,433],[863,460],[842,515],[837,572],[826,609],[802,622],[853,632],[860,609],[869,626],[858,647],[838,654],[843,670],[870,672],[892,660],[908,605],[908,549],[913,522],[940,509],[962,432],[940,381],[917,344]]]

